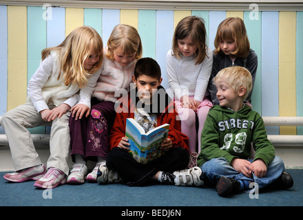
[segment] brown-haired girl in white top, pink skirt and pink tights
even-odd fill
[[[181,131],[189,137],[189,152],[200,152],[200,134],[212,103],[205,98],[213,54],[205,42],[206,30],[199,17],[185,17],[174,32],[173,48],[167,52],[169,87],[180,117]],[[196,116],[198,121],[196,122]]]

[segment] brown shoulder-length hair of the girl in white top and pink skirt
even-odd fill
[[[189,16],[179,21],[174,32],[173,39],[173,54],[176,58],[180,59],[181,52],[178,48],[178,40],[191,37],[193,43],[197,46],[195,52],[195,65],[202,63],[207,56],[207,43],[206,43],[206,29],[204,21],[200,17]]]

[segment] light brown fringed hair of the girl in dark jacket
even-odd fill
[[[235,41],[236,50],[231,54],[244,58],[249,55],[249,38],[244,22],[238,17],[229,17],[224,19],[218,26],[215,38],[215,54],[222,53],[220,49],[220,41]]]

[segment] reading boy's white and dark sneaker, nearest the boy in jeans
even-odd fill
[[[202,170],[195,166],[187,170],[179,170],[174,172],[176,186],[202,186],[203,181],[200,179]]]

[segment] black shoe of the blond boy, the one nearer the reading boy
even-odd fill
[[[221,177],[216,185],[216,191],[220,197],[226,197],[227,195],[236,194],[240,192],[240,182],[236,179],[228,179],[227,177]]]

